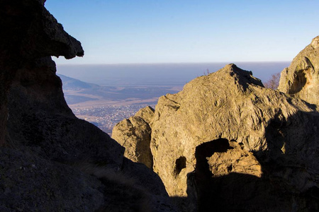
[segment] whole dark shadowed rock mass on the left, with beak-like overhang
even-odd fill
[[[176,211],[154,172],[67,106],[50,56],[84,51],[44,3],[0,1],[0,211]]]

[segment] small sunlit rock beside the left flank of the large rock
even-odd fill
[[[154,116],[152,107],[139,110],[134,117],[124,119],[114,126],[112,138],[125,147],[124,156],[134,162],[143,163],[152,169],[150,151],[150,120]]]

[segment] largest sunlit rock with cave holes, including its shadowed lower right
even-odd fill
[[[319,114],[250,71],[194,79],[149,123],[153,170],[184,211],[318,210]]]

